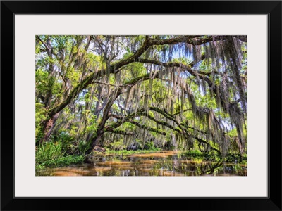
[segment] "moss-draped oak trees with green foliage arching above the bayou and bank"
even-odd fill
[[[36,139],[247,150],[246,36],[36,36]]]

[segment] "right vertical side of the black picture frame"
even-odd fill
[[[268,91],[268,116],[269,116],[269,124],[268,124],[268,137],[269,137],[269,198],[271,198],[271,201],[278,207],[279,210],[282,209],[282,193],[281,193],[281,169],[276,170],[275,166],[271,166],[271,160],[272,163],[276,162],[276,165],[281,165],[281,133],[280,133],[280,141],[277,141],[276,148],[272,146],[271,148],[271,142],[270,140],[275,140],[277,137],[274,134],[271,134],[270,132],[275,131],[281,131],[281,120],[279,124],[276,124],[275,121],[275,113],[276,115],[281,117],[281,71],[275,71],[275,70],[282,70],[281,68],[281,11],[282,11],[282,2],[276,1],[276,5],[271,10],[271,15],[269,17],[269,75],[268,75],[268,82],[269,82],[269,91]],[[272,26],[278,26],[271,27]],[[280,27],[280,28],[279,28]],[[275,42],[274,42],[275,41]],[[279,63],[280,61],[280,63]],[[273,70],[272,72],[270,70]],[[273,76],[271,76],[273,75]],[[277,87],[276,84],[280,84],[280,87]],[[274,95],[275,94],[275,95]],[[276,101],[276,95],[280,96],[280,102],[276,105],[274,104],[274,101]],[[272,101],[272,105],[270,107],[270,102]],[[277,102],[277,101],[276,101]],[[271,109],[270,109],[271,108]],[[271,115],[272,114],[272,115]],[[273,122],[271,124],[271,122]],[[275,122],[275,123],[274,123]],[[270,126],[271,125],[271,126]],[[278,139],[279,140],[279,139]],[[271,149],[271,153],[270,153]],[[277,159],[276,155],[280,154],[279,159]],[[276,179],[276,184],[274,184],[274,181],[271,179]],[[277,186],[275,189],[274,186]],[[280,188],[280,190],[278,189]],[[274,194],[275,193],[275,194]]]

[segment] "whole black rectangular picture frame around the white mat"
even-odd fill
[[[281,6],[281,1],[1,1],[1,210],[281,210]],[[268,14],[269,197],[15,198],[13,18],[16,13]]]

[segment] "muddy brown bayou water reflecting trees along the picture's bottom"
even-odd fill
[[[247,176],[247,165],[185,158],[176,151],[100,155],[90,163],[39,171],[37,176]]]

